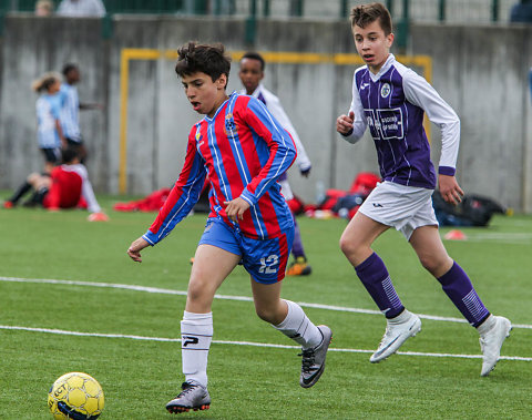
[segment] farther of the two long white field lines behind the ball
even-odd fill
[[[183,290],[163,289],[158,287],[149,287],[149,286],[124,285],[119,283],[57,280],[57,279],[47,279],[47,278],[19,278],[19,277],[3,277],[3,276],[0,276],[0,281],[104,287],[104,288],[125,289],[125,290],[143,291],[143,293],[151,293],[151,294],[186,296],[186,291],[183,291]],[[248,296],[214,295],[214,297],[215,299],[253,301],[253,298]],[[374,310],[374,309],[350,308],[346,306],[335,306],[335,305],[309,304],[305,301],[298,301],[297,304],[305,308],[326,309],[326,310],[335,310],[340,313],[382,315],[380,310]],[[417,315],[422,319],[430,319],[430,320],[444,321],[444,322],[468,324],[468,321],[462,318],[440,317],[437,315],[426,315],[426,314],[417,314]],[[529,325],[529,324],[512,324],[512,327],[532,329],[532,325]]]

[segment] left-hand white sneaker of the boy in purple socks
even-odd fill
[[[369,361],[377,363],[393,355],[410,337],[421,331],[421,319],[407,309],[396,318],[388,319],[386,332],[380,340],[379,348],[371,355]]]

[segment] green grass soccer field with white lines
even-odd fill
[[[184,219],[134,264],[127,246],[155,214],[114,213],[116,198],[99,199],[109,223],[89,223],[81,211],[0,209],[0,419],[50,419],[48,390],[74,370],[102,385],[102,419],[171,417],[164,404],[183,380],[177,339],[185,296],[176,291],[186,290],[205,215]],[[487,307],[515,325],[502,348],[505,359],[488,378],[480,377],[477,331],[453,321],[460,314],[397,232],[386,233],[375,249],[399,296],[411,311],[444,319],[423,318],[422,331],[400,354],[371,365],[385,320],[372,313],[375,304],[339,250],[346,222],[298,222],[314,272],[287,277],[283,297],[304,303],[315,324],[331,327],[324,376],[314,388],[299,387],[293,342],[260,321],[250,301],[231,298],[250,297],[249,278],[237,267],[218,291],[225,298],[213,307],[211,409],[177,418],[532,418],[532,217],[499,216],[488,228],[462,229],[466,242],[446,240]]]

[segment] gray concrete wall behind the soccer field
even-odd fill
[[[88,167],[98,191],[119,192],[120,52],[124,48],[175,50],[190,39],[221,41],[242,51],[245,20],[212,18],[115,17],[113,34],[103,39],[100,20],[9,17],[2,38],[0,82],[0,188],[12,188],[42,166],[35,140],[33,79],[65,62],[78,62],[84,102],[104,111],[82,112],[89,147]],[[518,211],[532,211],[532,121],[528,71],[532,65],[532,28],[413,25],[409,54],[433,60],[432,84],[462,121],[458,177],[472,193],[495,197]],[[257,23],[258,51],[354,53],[344,21]],[[127,192],[146,194],[171,185],[183,163],[187,133],[198,120],[182,92],[172,60],[130,62],[127,109]],[[239,89],[237,63],[229,91]],[[265,84],[280,98],[313,161],[309,180],[291,171],[296,194],[316,198],[316,185],[349,187],[361,171],[377,171],[372,141],[341,141],[335,120],[351,100],[355,66],[274,64]],[[439,131],[432,126],[438,162]]]

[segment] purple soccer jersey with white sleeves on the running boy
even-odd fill
[[[460,120],[436,90],[390,54],[378,74],[368,66],[355,71],[354,130],[345,135],[356,143],[369,126],[383,181],[433,189],[434,166],[423,129],[423,115],[442,133],[439,173],[454,175]]]

